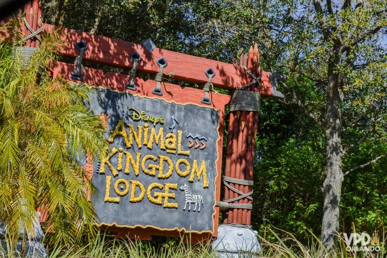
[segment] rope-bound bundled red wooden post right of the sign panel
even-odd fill
[[[257,44],[250,48],[249,54],[240,56],[240,65],[247,66],[255,75],[260,75],[259,53]],[[247,75],[249,77],[249,75]],[[251,79],[247,79],[249,81]],[[249,86],[247,90],[259,91],[258,85]],[[253,111],[233,111],[230,112],[229,135],[227,145],[227,157],[225,176],[239,180],[253,180],[253,162],[255,135],[258,128],[258,112]],[[253,187],[250,185],[238,185],[230,183],[232,187],[243,194],[248,194]],[[232,199],[240,196],[228,187],[225,187],[224,199]],[[252,204],[252,200],[242,198],[232,203]],[[230,208],[224,219],[224,223],[237,223],[243,225],[251,224],[251,209]]]

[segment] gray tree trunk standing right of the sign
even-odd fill
[[[328,65],[328,100],[325,126],[326,178],[323,184],[324,206],[321,239],[328,252],[336,244],[339,230],[339,206],[342,172],[341,110],[338,75],[334,74],[335,61]]]

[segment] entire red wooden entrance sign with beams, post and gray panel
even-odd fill
[[[38,3],[32,0],[26,4],[26,22],[32,31],[24,29],[23,36],[41,28],[48,33],[58,29],[41,23]],[[4,31],[1,35],[7,36]],[[259,87],[255,83],[243,90],[259,92],[261,97],[283,97],[276,91],[275,76],[260,70],[258,48],[241,57],[241,65],[236,65],[159,48],[148,52],[142,44],[71,29],[63,29],[63,39],[68,42],[61,50],[66,58],[78,57],[80,51],[75,44],[82,40],[87,45],[87,50],[82,51],[84,61],[131,68],[134,63],[130,56],[137,52],[141,57],[138,72],[160,72],[156,60],[165,58],[168,66],[164,73],[173,73],[178,80],[205,83],[208,81],[204,71],[211,67],[216,74],[211,80],[213,86],[228,90],[240,89],[252,81],[243,68],[247,66],[260,76],[260,83]],[[26,46],[38,44],[32,37]],[[75,83],[94,85],[97,93],[91,96],[90,108],[104,118],[105,136],[112,147],[107,160],[95,159],[92,163],[89,158],[85,167],[99,189],[92,201],[101,218],[100,228],[114,231],[117,236],[141,239],[150,239],[151,235],[189,235],[192,242],[199,242],[216,237],[223,117],[230,96],[210,92],[207,105],[200,101],[203,90],[161,82],[160,96],[152,93],[157,84],[154,80],[135,77],[136,89],[130,90],[125,86],[129,75],[105,74],[85,67],[80,80],[74,80],[71,73],[75,70],[74,65],[60,62],[52,67],[54,77],[60,75]],[[232,188],[225,188],[224,199],[237,198],[230,202],[244,205],[228,208],[224,223],[251,224],[249,193],[258,115],[257,111],[230,112],[225,176]]]

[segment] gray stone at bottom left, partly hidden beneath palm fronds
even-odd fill
[[[7,245],[4,240],[6,228],[7,225],[0,222],[0,245],[2,247],[2,250],[0,247],[0,256],[5,257],[8,254]],[[44,248],[43,243],[41,243],[40,241],[43,238],[43,231],[40,227],[39,217],[35,217],[34,219],[34,233],[34,235],[28,234],[28,236],[26,237],[27,240],[24,240],[23,246],[24,232],[21,232],[13,253],[20,254],[20,257],[26,258],[46,258],[46,249]],[[21,254],[23,254],[23,256]]]

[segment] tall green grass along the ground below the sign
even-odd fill
[[[277,232],[277,233],[276,233]],[[240,257],[257,258],[386,258],[386,235],[383,232],[380,252],[351,252],[346,250],[342,236],[338,236],[338,247],[327,253],[317,236],[309,233],[308,243],[301,243],[291,233],[266,228],[259,237],[261,252],[259,254],[240,255]],[[280,232],[281,237],[278,235]],[[284,237],[285,236],[285,237]],[[99,233],[89,244],[72,248],[55,247],[49,250],[49,258],[216,258],[210,244],[191,245],[176,239],[162,238],[157,241],[139,241],[115,239],[106,233]],[[0,257],[18,257],[18,253],[8,255],[0,252]]]

